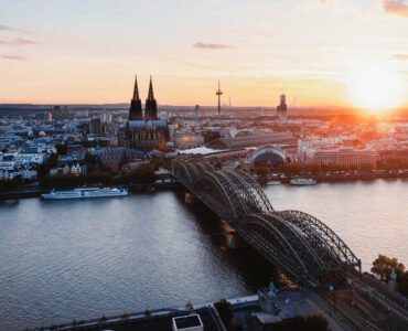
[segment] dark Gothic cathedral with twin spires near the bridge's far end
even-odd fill
[[[135,78],[133,97],[130,102],[129,120],[126,126],[127,146],[149,152],[153,149],[163,150],[169,140],[168,122],[158,119],[158,105],[153,95],[151,77],[149,95],[144,105],[144,115],[139,97],[138,81]]]

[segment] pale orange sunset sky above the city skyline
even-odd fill
[[[0,0],[0,103],[128,103],[136,74],[162,105],[219,79],[233,106],[407,107],[408,0]]]

